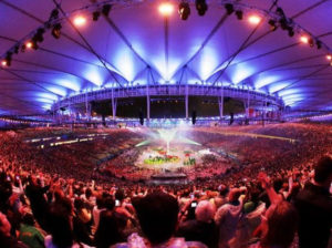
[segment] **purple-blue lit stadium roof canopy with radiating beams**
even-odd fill
[[[203,17],[188,1],[186,21],[180,1],[169,1],[169,16],[162,2],[0,0],[0,114],[44,113],[79,92],[147,83],[222,82],[293,108],[332,108],[331,0],[211,0]]]

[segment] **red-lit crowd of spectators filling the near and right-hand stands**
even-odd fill
[[[273,141],[272,147],[260,140],[249,145],[249,138],[216,138],[214,144],[228,143],[229,151],[245,149],[245,165],[173,186],[91,180],[76,170],[51,167],[43,151],[20,143],[15,133],[2,133],[0,247],[326,248],[332,227],[332,159],[325,156],[330,130],[301,124],[259,130],[297,138],[295,144],[283,143],[290,146],[284,153],[281,142]]]

